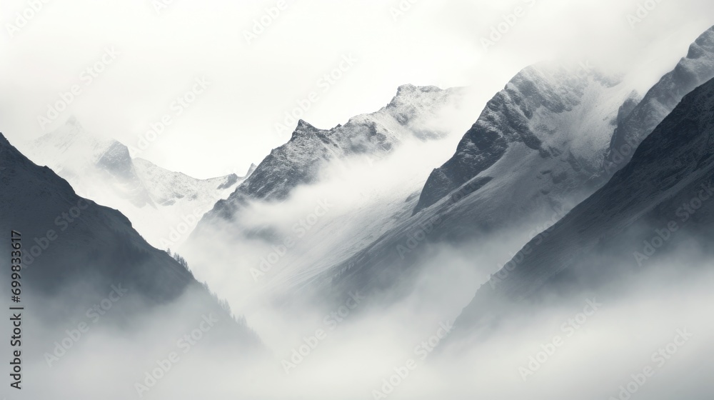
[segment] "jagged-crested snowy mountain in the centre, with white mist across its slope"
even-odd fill
[[[464,96],[405,85],[383,109],[344,125],[299,121],[291,139],[206,214],[182,252],[193,260],[211,249],[225,265],[214,261],[197,274],[216,290],[243,284],[231,290],[236,296],[304,284],[408,219],[429,165],[448,157],[469,124]]]

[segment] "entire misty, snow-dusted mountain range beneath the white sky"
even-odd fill
[[[64,382],[91,371],[126,382],[119,398],[135,396],[140,385],[132,382],[148,385],[153,372],[144,371],[164,368],[176,338],[206,323],[211,329],[198,331],[210,339],[188,348],[210,367],[196,376],[176,368],[174,384],[157,392],[188,396],[181,379],[211,389],[234,379],[261,393],[264,382],[253,376],[284,368],[286,359],[270,353],[293,346],[293,336],[288,359],[297,367],[338,346],[322,340],[349,336],[333,334],[331,324],[351,313],[360,316],[344,326],[401,318],[394,304],[419,297],[420,285],[433,284],[443,298],[468,290],[453,332],[441,344],[441,333],[426,341],[434,347],[436,337],[462,355],[521,321],[528,307],[573,294],[624,296],[655,269],[685,274],[697,269],[684,265],[690,260],[710,264],[714,27],[643,96],[625,75],[567,62],[527,66],[480,113],[466,96],[462,88],[403,85],[382,109],[345,124],[319,129],[300,120],[243,177],[168,171],[74,118],[23,144],[26,155],[0,134],[0,229],[22,238],[30,373]],[[493,254],[503,262],[491,263]],[[9,260],[0,266],[8,270]],[[438,276],[457,263],[469,273]],[[7,286],[0,294],[9,297]],[[453,311],[439,309],[441,300],[399,306],[421,304],[408,311],[428,319],[434,309]],[[74,327],[97,307],[106,313],[96,334],[75,339]],[[303,320],[313,318],[320,329],[306,331]],[[348,340],[378,346],[388,334],[374,329]],[[84,352],[90,356],[73,355]],[[63,361],[72,367],[46,369]],[[263,363],[268,369],[258,369]],[[393,371],[406,378],[401,367]],[[301,379],[288,374],[296,387],[309,386]],[[73,395],[85,394],[80,386]],[[31,394],[46,396],[40,389]]]

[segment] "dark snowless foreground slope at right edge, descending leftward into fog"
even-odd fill
[[[610,284],[683,244],[710,254],[713,184],[714,79],[686,95],[602,189],[479,289],[457,321],[462,334],[498,302],[532,299],[562,286]]]

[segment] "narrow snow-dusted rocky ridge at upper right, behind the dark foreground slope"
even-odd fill
[[[670,114],[685,94],[714,78],[714,26],[705,31],[689,47],[687,56],[673,71],[662,77],[643,100],[618,126],[605,154],[601,176],[608,179],[627,164],[645,137]],[[625,104],[630,108],[633,104]]]

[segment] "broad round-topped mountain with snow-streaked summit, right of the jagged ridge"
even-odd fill
[[[387,289],[423,260],[427,244],[553,224],[591,193],[585,182],[600,167],[625,99],[636,102],[626,84],[598,71],[524,69],[488,102],[456,155],[432,172],[418,212],[336,264],[323,283],[336,293]],[[523,242],[532,237],[526,232]]]

